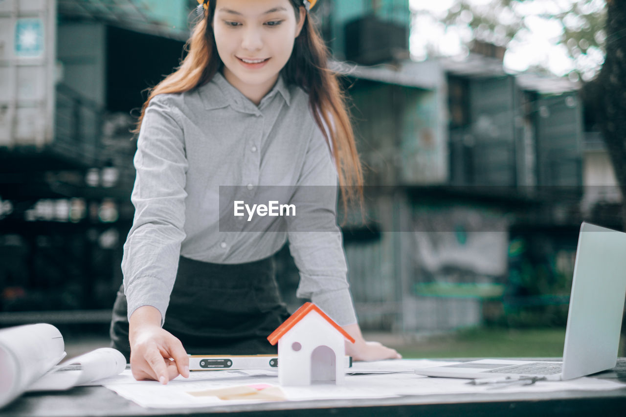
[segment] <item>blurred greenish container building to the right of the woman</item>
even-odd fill
[[[366,167],[370,221],[344,227],[362,326],[564,325],[580,222],[621,228],[580,85],[478,41],[413,62],[406,1],[321,5]]]

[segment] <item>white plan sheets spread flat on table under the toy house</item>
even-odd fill
[[[277,401],[284,397],[287,401],[304,401],[314,399],[358,399],[358,398],[386,398],[407,395],[426,394],[459,394],[459,393],[511,393],[511,392],[548,392],[562,390],[606,390],[623,388],[625,385],[608,381],[607,379],[578,378],[571,381],[539,381],[530,386],[507,386],[500,389],[490,389],[488,386],[467,384],[468,379],[460,378],[430,378],[413,373],[413,369],[443,364],[443,361],[417,361],[402,359],[394,361],[377,361],[357,363],[356,369],[387,371],[394,373],[384,374],[348,374],[344,384],[314,384],[310,386],[280,386],[276,373],[262,371],[203,371],[192,372],[189,379],[173,379],[167,385],[156,381],[135,381],[126,370],[125,381],[109,382],[104,385],[124,398],[148,408],[191,408],[207,406],[224,406],[251,402]],[[406,372],[411,369],[411,372]],[[354,371],[354,369],[352,369]],[[349,370],[347,370],[349,372]],[[126,374],[126,375],[124,375]],[[270,388],[272,399],[249,396],[250,399],[220,399],[218,396],[202,394],[206,392],[252,392],[252,389]],[[269,391],[267,391],[269,392]],[[270,397],[269,397],[270,398]]]

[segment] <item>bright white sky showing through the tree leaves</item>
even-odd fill
[[[595,48],[588,49],[587,54],[578,56],[576,61],[568,56],[565,45],[557,45],[562,34],[562,26],[559,22],[531,16],[541,13],[555,13],[568,9],[575,0],[526,0],[518,4],[520,13],[526,15],[526,24],[530,33],[518,33],[511,41],[505,54],[504,66],[511,71],[524,71],[529,66],[540,64],[548,68],[552,73],[562,76],[574,68],[580,68],[583,78],[590,79],[600,68],[604,61],[601,51]],[[488,6],[491,0],[471,0],[478,6]],[[409,5],[414,11],[413,28],[411,28],[411,54],[414,59],[425,59],[428,55],[441,54],[445,56],[463,56],[468,53],[463,43],[471,40],[469,26],[454,26],[446,28],[436,21],[428,12],[435,16],[443,17],[450,8],[458,4],[458,0],[409,0]],[[590,11],[601,9],[604,0],[594,0],[588,8]],[[471,13],[464,17],[471,20]],[[512,15],[501,13],[500,21],[506,22],[513,19]],[[571,19],[570,19],[571,20]],[[566,22],[566,24],[578,24],[578,22]],[[600,34],[602,36],[602,34]],[[497,43],[497,40],[495,43]],[[573,75],[572,75],[573,76]]]

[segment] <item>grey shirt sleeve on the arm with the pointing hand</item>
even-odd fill
[[[185,239],[187,157],[175,106],[156,95],[146,107],[133,160],[135,206],[122,258],[128,317],[141,306],[161,312],[161,325]]]

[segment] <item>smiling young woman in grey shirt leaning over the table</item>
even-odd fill
[[[136,211],[112,346],[130,356],[136,379],[163,384],[188,376],[187,353],[275,353],[266,337],[289,312],[272,255],[288,239],[297,296],[356,339],[346,353],[399,358],[364,341],[346,281],[337,182],[344,197],[358,199],[361,168],[344,96],[308,17],[316,0],[198,3],[188,54],[151,90],[135,131]],[[301,216],[287,230],[267,223],[265,232],[247,232],[243,219],[235,220],[239,232],[220,227],[220,200],[266,185],[293,187],[289,202],[308,208],[308,223]],[[331,190],[331,201],[299,191],[308,186]]]

